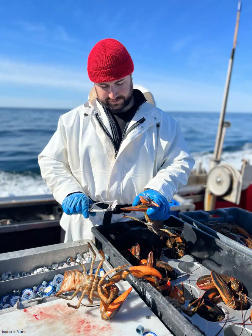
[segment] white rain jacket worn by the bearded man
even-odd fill
[[[138,88],[144,94],[148,91]],[[68,194],[82,192],[96,202],[132,204],[146,188],[159,191],[170,201],[187,183],[195,161],[180,127],[156,108],[153,96],[147,94],[152,103],[146,101],[137,110],[117,155],[104,129],[113,137],[94,88],[85,104],[60,116],[56,132],[38,156],[42,178],[58,203]],[[142,212],[129,215],[143,217]],[[91,227],[101,225],[103,216],[100,212],[85,219],[63,213],[60,225],[66,231],[65,242],[93,239]],[[122,214],[113,214],[111,222],[127,220]]]

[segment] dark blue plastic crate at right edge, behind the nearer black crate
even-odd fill
[[[179,214],[180,219],[189,223],[209,235],[220,239],[222,242],[241,250],[243,253],[247,253],[252,257],[252,250],[247,246],[244,246],[219,232],[211,229],[205,224],[208,222],[212,223],[228,223],[237,224],[246,230],[250,235],[252,235],[252,212],[241,208],[223,208],[212,211],[186,211]]]

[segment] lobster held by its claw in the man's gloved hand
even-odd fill
[[[169,230],[168,226],[164,225],[162,221],[152,220],[146,214],[146,211],[148,210],[149,207],[151,206],[159,207],[159,205],[155,203],[148,196],[139,196],[139,198],[141,201],[140,205],[121,208],[121,210],[142,211],[144,213],[145,221],[135,218],[135,217],[127,216],[125,214],[123,214],[123,217],[131,218],[133,220],[137,220],[140,223],[145,224],[151,232],[161,236],[161,239],[163,239],[163,237],[167,237],[166,245],[169,248],[174,248],[177,251],[178,256],[182,257],[185,253],[185,244],[183,242],[182,237],[178,235],[177,233],[175,233],[173,230]],[[174,243],[176,243],[175,247],[173,247]]]

